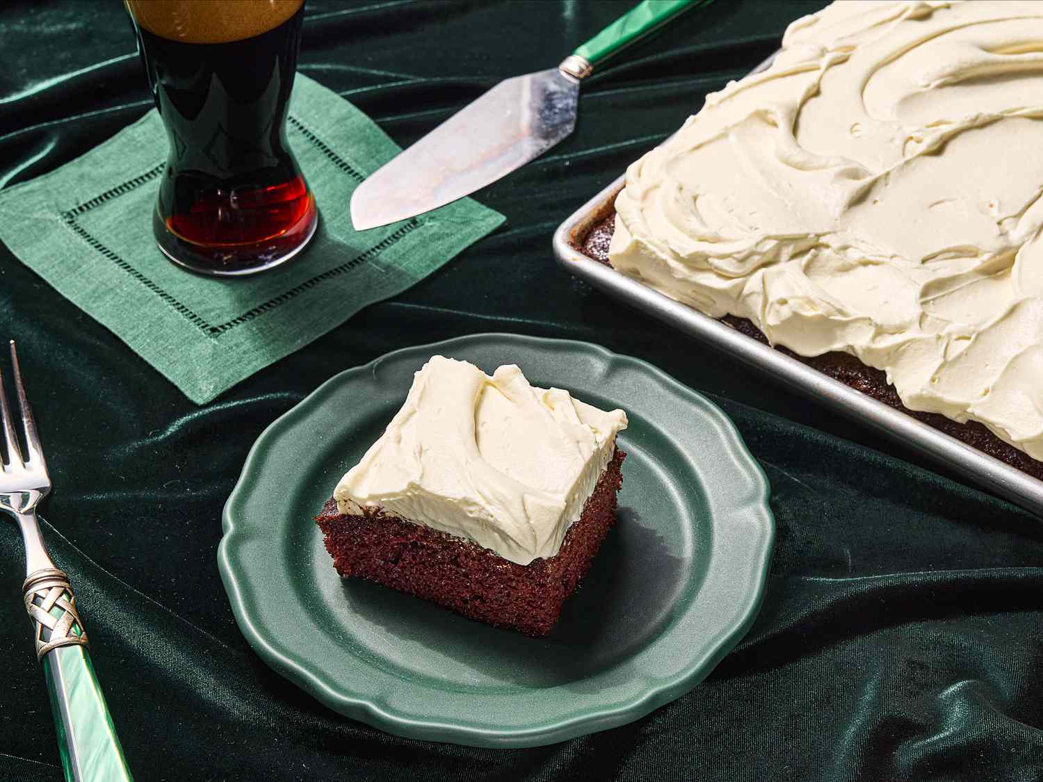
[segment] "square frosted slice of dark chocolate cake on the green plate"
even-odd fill
[[[434,357],[315,520],[343,578],[539,636],[609,530],[623,411]]]

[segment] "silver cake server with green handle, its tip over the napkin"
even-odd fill
[[[351,195],[356,230],[463,198],[538,157],[576,127],[580,80],[685,8],[710,0],[644,0],[557,68],[501,81],[374,171]]]

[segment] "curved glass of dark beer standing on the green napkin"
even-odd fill
[[[286,141],[304,0],[124,1],[170,141],[160,248],[216,275],[293,258],[318,220]]]

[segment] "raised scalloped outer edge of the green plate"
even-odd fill
[[[340,387],[345,382],[349,382],[358,375],[370,374],[370,376],[374,376],[377,368],[382,363],[403,359],[407,355],[427,352],[428,356],[431,356],[436,352],[444,352],[446,349],[452,351],[452,347],[454,346],[498,340],[522,343],[530,347],[564,347],[592,351],[605,359],[609,365],[621,363],[635,366],[640,371],[650,374],[656,381],[665,385],[676,395],[687,397],[695,401],[701,411],[706,413],[707,417],[713,421],[715,424],[714,429],[727,443],[731,456],[738,457],[733,460],[733,464],[743,473],[750,485],[749,488],[752,489],[751,496],[747,502],[742,505],[731,506],[727,516],[731,516],[732,514],[753,516],[761,533],[759,540],[756,541],[759,546],[753,568],[756,572],[753,580],[747,584],[747,589],[743,592],[742,600],[736,601],[733,620],[730,621],[724,632],[719,634],[714,642],[707,646],[702,655],[689,660],[681,671],[661,681],[652,679],[647,675],[640,677],[640,680],[647,686],[637,698],[631,697],[622,702],[604,704],[601,708],[597,709],[588,708],[582,714],[564,719],[545,720],[530,725],[526,729],[509,730],[499,729],[494,726],[464,727],[459,723],[429,719],[399,709],[387,708],[380,704],[375,698],[345,693],[341,687],[331,686],[325,681],[321,670],[315,669],[308,661],[301,661],[292,651],[283,646],[277,639],[273,639],[270,637],[270,634],[262,632],[262,629],[254,622],[251,612],[246,605],[250,600],[245,594],[248,591],[248,585],[240,583],[240,579],[236,572],[237,568],[235,567],[235,555],[229,551],[232,547],[229,541],[236,537],[237,533],[241,534],[241,528],[237,528],[234,519],[236,506],[244,502],[245,496],[249,492],[247,479],[257,469],[257,463],[262,458],[262,453],[266,450],[267,441],[275,438],[282,430],[290,426],[299,417],[307,416],[309,409],[320,404],[331,390]],[[228,594],[236,622],[249,645],[269,667],[301,687],[334,711],[360,719],[387,733],[407,738],[450,741],[464,746],[486,748],[539,747],[591,732],[608,730],[639,719],[660,706],[689,691],[708,676],[720,660],[734,647],[753,624],[763,600],[768,569],[771,564],[775,540],[775,522],[769,507],[769,496],[770,485],[763,470],[756,459],[749,453],[742,435],[735,429],[731,419],[705,396],[688,388],[649,362],[632,356],[615,353],[601,345],[579,340],[531,337],[507,333],[472,334],[429,344],[402,347],[384,353],[366,364],[337,372],[265,427],[250,447],[243,464],[243,469],[222,511],[222,537],[217,552],[218,569]],[[710,503],[708,492],[707,503]],[[714,513],[713,515],[717,516],[718,514]],[[717,526],[717,522],[714,522],[714,526]],[[239,570],[242,572],[241,566]],[[669,631],[664,630],[663,634],[666,632]],[[654,646],[658,640],[659,638],[654,640],[651,645]],[[647,651],[648,647],[642,650],[641,653]],[[367,661],[358,657],[355,660],[371,668]]]

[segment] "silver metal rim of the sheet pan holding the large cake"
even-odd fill
[[[766,70],[769,57],[751,73]],[[755,366],[807,396],[883,434],[913,445],[928,458],[1021,507],[1043,515],[1043,481],[974,448],[906,413],[857,391],[730,325],[675,301],[580,251],[590,229],[612,214],[623,190],[622,174],[573,213],[554,234],[554,254],[569,273],[662,320],[670,326]]]

